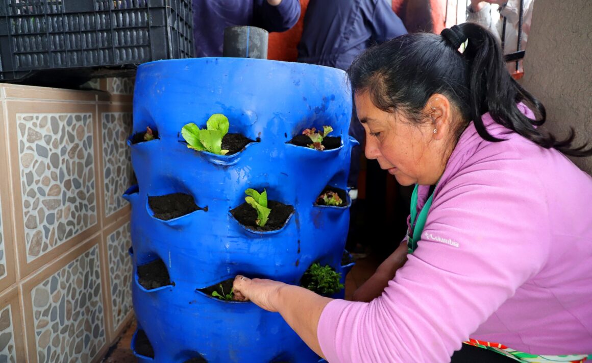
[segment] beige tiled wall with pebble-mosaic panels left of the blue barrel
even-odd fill
[[[0,356],[96,362],[130,321],[133,80],[0,83]]]

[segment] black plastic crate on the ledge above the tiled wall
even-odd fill
[[[3,0],[0,81],[122,75],[189,58],[192,23],[191,0]]]

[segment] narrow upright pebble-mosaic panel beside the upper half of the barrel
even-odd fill
[[[103,165],[105,176],[105,214],[120,210],[127,205],[121,195],[131,185],[130,147],[127,137],[131,134],[131,113],[102,114]]]

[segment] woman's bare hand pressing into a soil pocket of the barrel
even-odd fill
[[[286,286],[284,282],[253,278],[242,275],[234,278],[234,300],[252,301],[262,309],[276,312],[279,290]]]

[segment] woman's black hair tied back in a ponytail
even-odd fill
[[[458,47],[465,41],[463,53]],[[488,30],[474,23],[455,25],[442,35],[406,34],[371,47],[358,56],[348,69],[353,92],[368,92],[372,103],[387,112],[399,111],[411,120],[424,120],[422,110],[433,94],[443,94],[461,113],[455,133],[461,136],[472,120],[480,136],[499,142],[488,133],[481,115],[490,113],[493,120],[526,139],[549,149],[554,147],[565,155],[590,156],[592,147],[572,146],[571,129],[565,140],[537,127],[545,123],[543,104],[511,77],[503,52]],[[539,115],[532,120],[517,107],[526,101]]]

